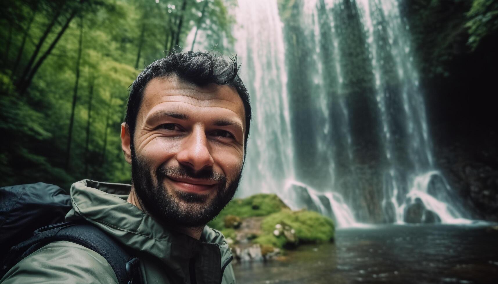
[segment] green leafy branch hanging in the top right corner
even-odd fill
[[[469,28],[470,34],[468,44],[475,50],[484,37],[498,31],[498,2],[474,0],[467,17],[469,21],[465,26]]]

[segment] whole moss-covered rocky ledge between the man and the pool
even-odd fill
[[[330,218],[292,211],[275,194],[234,199],[208,225],[225,235],[237,261],[282,259],[286,249],[334,240]]]

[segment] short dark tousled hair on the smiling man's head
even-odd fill
[[[126,107],[124,122],[128,126],[131,143],[133,143],[136,116],[140,109],[145,86],[153,78],[176,75],[180,79],[199,87],[214,83],[218,85],[228,85],[237,90],[237,93],[239,93],[242,102],[244,103],[244,110],[246,113],[246,135],[244,137],[244,145],[245,148],[247,148],[251,108],[248,90],[238,75],[239,67],[240,66],[237,65],[237,57],[226,60],[219,53],[212,51],[175,52],[145,67],[129,87],[128,105]]]

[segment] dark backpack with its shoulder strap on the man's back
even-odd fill
[[[70,241],[104,257],[120,284],[141,283],[138,258],[90,223],[63,222],[70,209],[71,197],[54,185],[0,188],[0,278],[41,247],[53,241]]]

